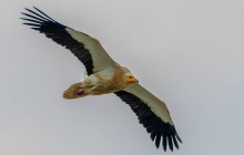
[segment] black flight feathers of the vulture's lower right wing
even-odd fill
[[[173,152],[173,143],[179,148],[177,141],[182,143],[179,137],[174,125],[163,122],[156,116],[151,108],[138,96],[126,91],[119,91],[115,94],[130,105],[132,111],[136,114],[139,123],[141,123],[150,135],[151,140],[155,142],[155,146],[159,148],[162,143],[163,149],[166,147]],[[172,142],[173,140],[173,142]]]

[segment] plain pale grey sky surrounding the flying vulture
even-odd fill
[[[38,7],[103,44],[164,100],[179,151],[156,149],[115,95],[62,99],[83,78],[68,50],[26,25]],[[243,0],[2,0],[1,155],[243,155]]]

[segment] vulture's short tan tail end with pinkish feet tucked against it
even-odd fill
[[[78,99],[78,97],[82,97],[82,96],[87,96],[87,94],[84,93],[84,89],[82,86],[82,82],[72,84],[63,93],[63,97],[69,99],[69,100],[70,99]]]

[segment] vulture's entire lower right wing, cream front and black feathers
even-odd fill
[[[151,94],[139,83],[130,84],[125,90],[115,93],[122,101],[129,104],[138,115],[139,122],[143,124],[152,141],[159,148],[160,143],[164,151],[169,146],[173,151],[173,144],[179,148],[177,141],[182,143],[171,120],[164,102]]]

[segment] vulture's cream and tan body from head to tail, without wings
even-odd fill
[[[64,99],[78,99],[87,95],[102,95],[115,93],[125,89],[131,82],[125,76],[132,76],[130,71],[118,65],[116,69],[108,69],[91,74],[83,82],[72,84],[63,93]],[[136,81],[135,79],[132,81]]]

